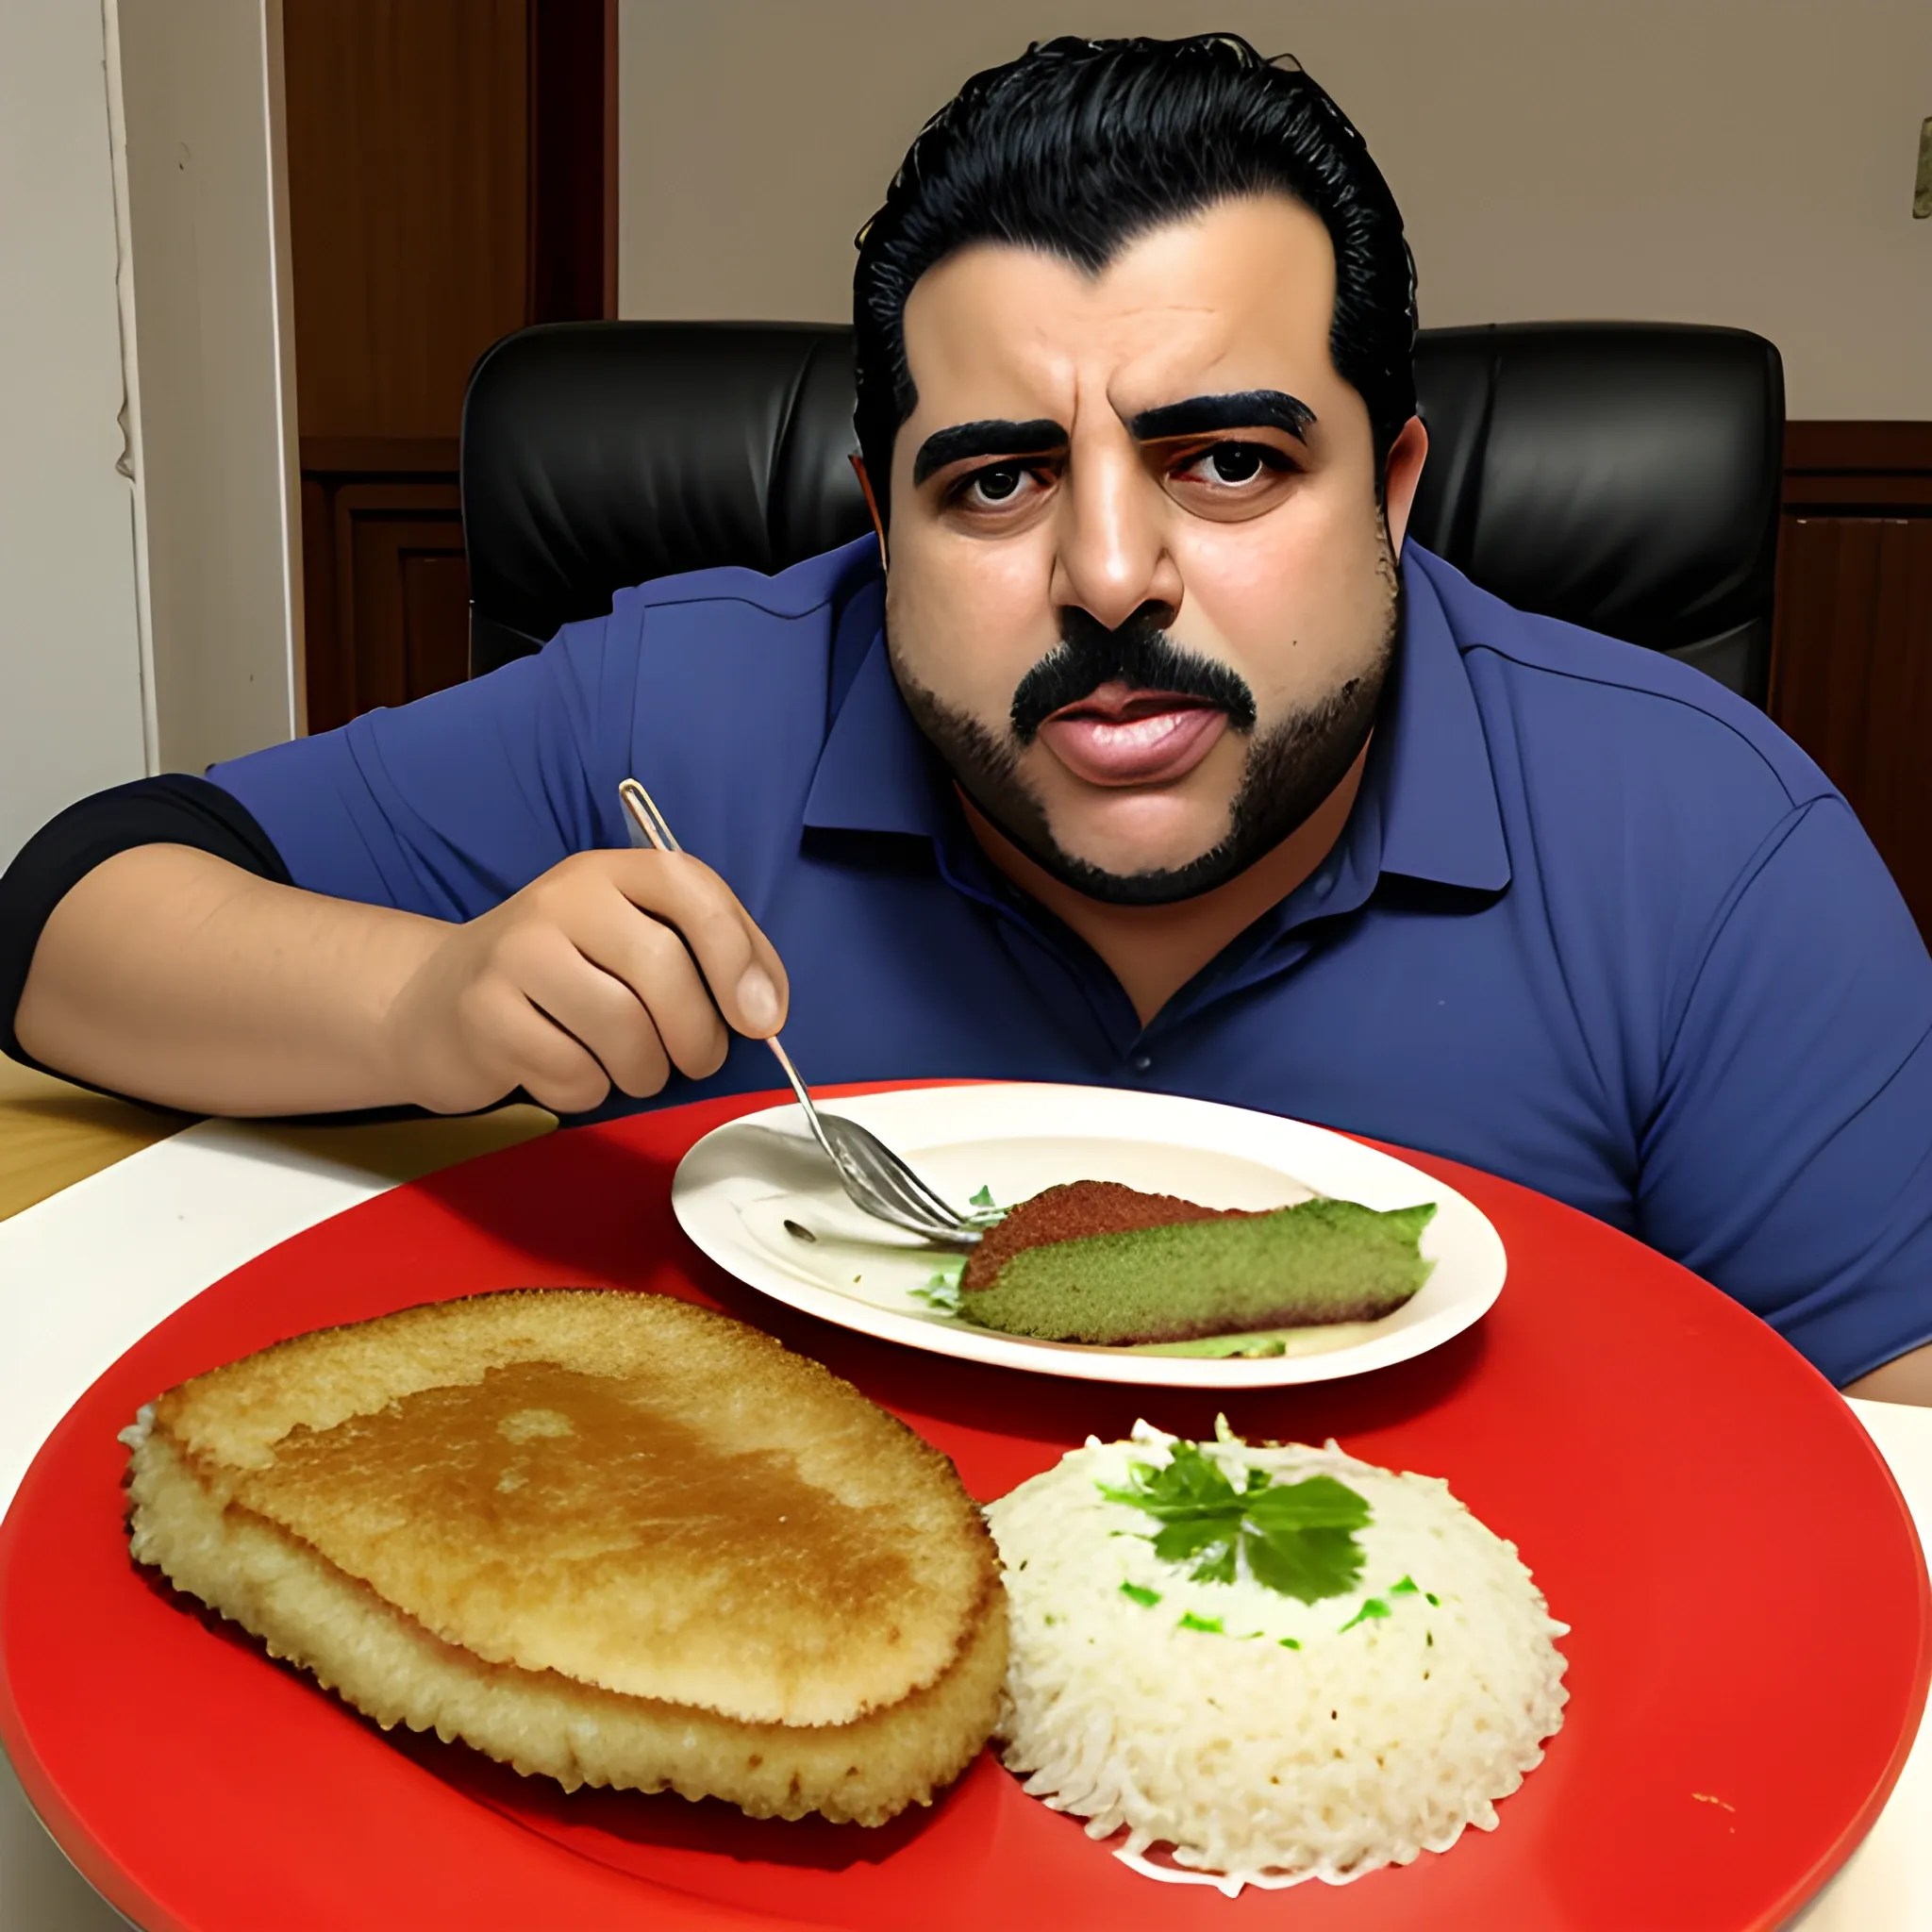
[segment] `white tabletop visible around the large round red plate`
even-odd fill
[[[209,1121],[0,1221],[0,1513],[70,1405],[131,1343],[249,1256],[394,1186],[383,1173]],[[1853,1403],[1932,1544],[1932,1410]],[[1932,1727],[1803,1932],[1932,1926]],[[0,1926],[116,1932],[0,1764]]]

